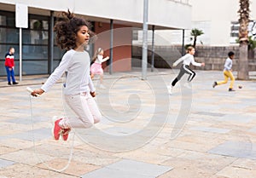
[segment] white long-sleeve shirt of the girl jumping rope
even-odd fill
[[[78,95],[81,92],[95,91],[90,78],[90,55],[86,51],[78,52],[73,49],[67,51],[59,66],[55,68],[41,89],[45,92],[49,91],[64,72],[67,72],[64,95]]]

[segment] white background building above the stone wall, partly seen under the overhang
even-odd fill
[[[185,44],[193,43],[190,32],[192,28],[197,28],[204,32],[198,37],[197,45],[234,45],[236,37],[230,37],[230,26],[231,21],[238,21],[239,0],[190,0],[190,3],[192,22],[191,28],[185,32]],[[256,1],[250,1],[250,10],[250,19],[256,20]],[[156,39],[158,45],[182,44],[181,31],[158,31],[156,34],[165,39]]]

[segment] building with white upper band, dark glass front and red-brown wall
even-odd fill
[[[53,26],[58,12],[67,9],[93,25],[97,40],[90,45],[90,55],[96,48],[102,47],[106,55],[113,52],[113,72],[131,70],[132,32],[134,28],[143,27],[143,0],[0,0],[0,65],[3,66],[9,46],[15,47],[16,74],[20,72],[21,34],[15,26],[17,4],[28,7],[28,28],[21,31],[22,74],[50,73],[58,65],[64,51],[54,43]],[[178,20],[178,16],[183,16],[183,20]],[[188,0],[148,0],[148,30],[153,26],[156,30],[189,29],[190,17]],[[5,75],[5,71],[0,70],[0,75]]]

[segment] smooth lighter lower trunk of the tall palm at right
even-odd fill
[[[237,79],[247,80],[249,79],[248,72],[248,45],[247,43],[240,43],[239,46],[239,60],[237,68]]]

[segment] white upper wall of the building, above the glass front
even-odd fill
[[[103,19],[143,23],[143,0],[0,0],[0,3],[25,3],[29,7],[61,11]],[[183,17],[180,20],[179,17]],[[148,0],[148,24],[190,28],[191,7],[172,0]]]

